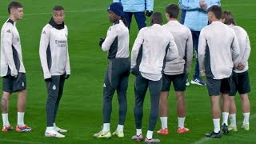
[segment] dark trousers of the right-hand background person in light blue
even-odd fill
[[[198,40],[199,40],[200,31],[191,30],[191,33],[192,33],[192,39],[193,39],[193,47],[198,55]],[[200,74],[199,62],[198,62],[198,57],[197,57],[195,67],[194,67],[194,78],[198,78],[199,74]]]

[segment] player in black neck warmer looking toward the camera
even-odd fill
[[[64,8],[55,6],[50,22],[42,29],[40,39],[40,60],[47,88],[46,137],[64,138],[60,134],[67,130],[55,124],[58,105],[62,98],[64,82],[70,77],[70,57],[68,52],[68,30],[64,24]]]

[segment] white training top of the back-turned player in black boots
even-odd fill
[[[201,30],[198,61],[202,75],[207,78],[229,78],[238,66],[239,45],[234,30],[215,21]]]

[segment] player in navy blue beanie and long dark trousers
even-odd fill
[[[95,138],[110,138],[110,115],[112,111],[112,98],[114,91],[118,93],[119,122],[113,135],[124,137],[123,126],[126,119],[127,102],[126,90],[130,75],[129,60],[129,30],[126,27],[123,7],[120,2],[112,3],[108,8],[110,26],[106,39],[101,39],[99,46],[103,51],[108,51],[109,64],[107,66],[103,85],[103,128]]]

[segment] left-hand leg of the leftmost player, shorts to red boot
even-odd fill
[[[6,75],[2,78],[2,99],[1,99],[1,108],[2,108],[2,131],[6,132],[8,130],[13,130],[13,127],[10,126],[10,122],[8,119],[9,112],[9,99],[12,93],[12,84],[13,80],[10,75]]]

